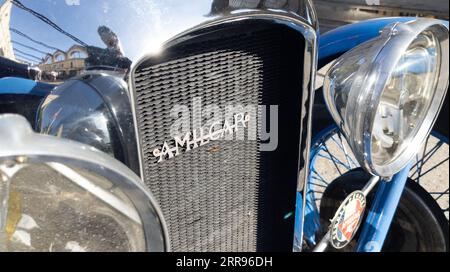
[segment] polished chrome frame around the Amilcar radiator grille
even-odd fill
[[[311,10],[311,14],[313,15],[313,18],[315,17],[314,10]],[[284,24],[288,27],[291,27],[299,32],[300,35],[302,35],[305,39],[305,49],[304,49],[304,66],[303,66],[303,73],[304,73],[304,80],[303,80],[303,98],[301,101],[301,127],[300,127],[300,149],[299,149],[299,158],[302,158],[303,165],[299,165],[299,176],[297,180],[297,191],[301,192],[303,194],[303,207],[306,205],[306,181],[308,179],[308,169],[309,169],[309,153],[310,153],[310,146],[311,146],[311,137],[312,137],[312,109],[314,105],[314,91],[315,91],[315,76],[316,76],[316,68],[317,68],[317,57],[318,57],[318,44],[317,44],[317,36],[318,36],[318,30],[317,30],[317,24],[313,23],[310,24],[308,22],[305,22],[302,18],[299,18],[298,16],[293,16],[292,14],[281,12],[281,11],[245,11],[237,14],[233,14],[231,16],[227,16],[222,19],[217,19],[212,22],[204,22],[203,24],[200,24],[194,28],[191,28],[187,31],[182,32],[179,35],[176,35],[175,37],[169,39],[166,41],[161,48],[157,52],[149,53],[141,57],[137,62],[133,63],[130,77],[129,77],[129,86],[131,88],[130,91],[130,100],[132,103],[132,110],[133,110],[133,121],[135,124],[135,131],[136,131],[136,142],[138,144],[138,153],[139,153],[139,162],[140,162],[140,176],[143,177],[143,165],[142,165],[142,148],[140,143],[140,136],[139,136],[139,130],[137,128],[137,115],[136,115],[136,107],[135,107],[135,79],[134,74],[136,72],[137,67],[139,67],[140,64],[148,60],[149,58],[157,56],[157,54],[164,52],[165,48],[169,48],[176,43],[182,41],[186,37],[189,37],[190,33],[193,33],[195,31],[205,29],[208,27],[213,27],[221,24],[227,24],[237,21],[244,21],[244,20],[266,20],[270,21],[276,24]],[[191,38],[191,37],[189,37]],[[301,152],[303,150],[303,153]],[[301,161],[301,160],[300,160]],[[302,209],[301,216],[302,222],[304,218],[305,210]],[[303,231],[303,228],[301,228]],[[303,233],[295,233],[296,236],[303,237]],[[302,238],[294,238],[294,241],[299,240],[302,241]],[[294,249],[298,249],[299,245],[294,245]],[[301,248],[301,247],[300,247]]]

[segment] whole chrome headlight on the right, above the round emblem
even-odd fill
[[[448,28],[418,19],[386,27],[328,71],[325,101],[372,174],[392,176],[420,149],[447,91],[448,54]]]

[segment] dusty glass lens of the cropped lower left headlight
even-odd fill
[[[76,183],[47,165],[30,165],[9,181],[0,251],[146,250],[128,197],[103,177],[75,172],[85,179]]]

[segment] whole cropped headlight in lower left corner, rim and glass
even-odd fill
[[[161,211],[110,156],[0,115],[0,251],[164,251]]]

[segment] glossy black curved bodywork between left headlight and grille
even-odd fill
[[[139,174],[126,83],[104,74],[66,81],[38,109],[37,131],[89,144]]]

